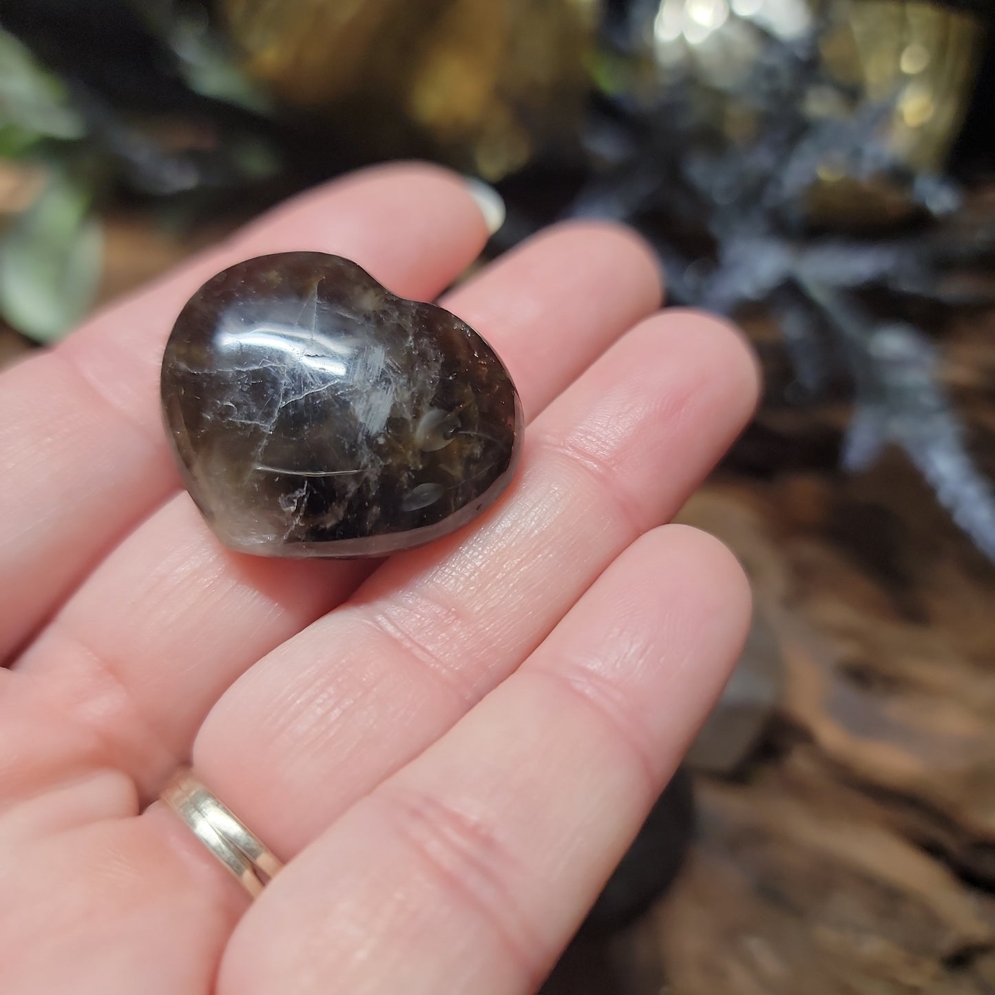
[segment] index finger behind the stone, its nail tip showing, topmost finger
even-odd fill
[[[200,284],[239,260],[309,249],[354,260],[395,294],[433,298],[487,236],[460,177],[422,164],[367,170],[278,208],[0,376],[0,660],[177,486],[159,362]]]

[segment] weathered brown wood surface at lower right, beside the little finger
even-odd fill
[[[995,338],[970,335],[980,437]],[[673,890],[578,940],[548,992],[995,993],[995,569],[894,453],[725,473],[682,518],[750,573],[778,703],[732,776],[697,776]]]

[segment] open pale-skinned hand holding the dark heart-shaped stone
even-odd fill
[[[484,222],[427,166],[273,212],[0,376],[0,991],[533,991],[738,652],[746,582],[665,522],[755,403],[738,334],[655,263],[543,233],[444,299],[529,426],[507,494],[358,562],[222,548],[158,412],[173,316],[265,252],[433,298]],[[157,791],[185,759],[287,862],[254,904]]]

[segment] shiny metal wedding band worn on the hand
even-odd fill
[[[283,868],[259,837],[189,768],[179,771],[160,797],[254,898]]]

